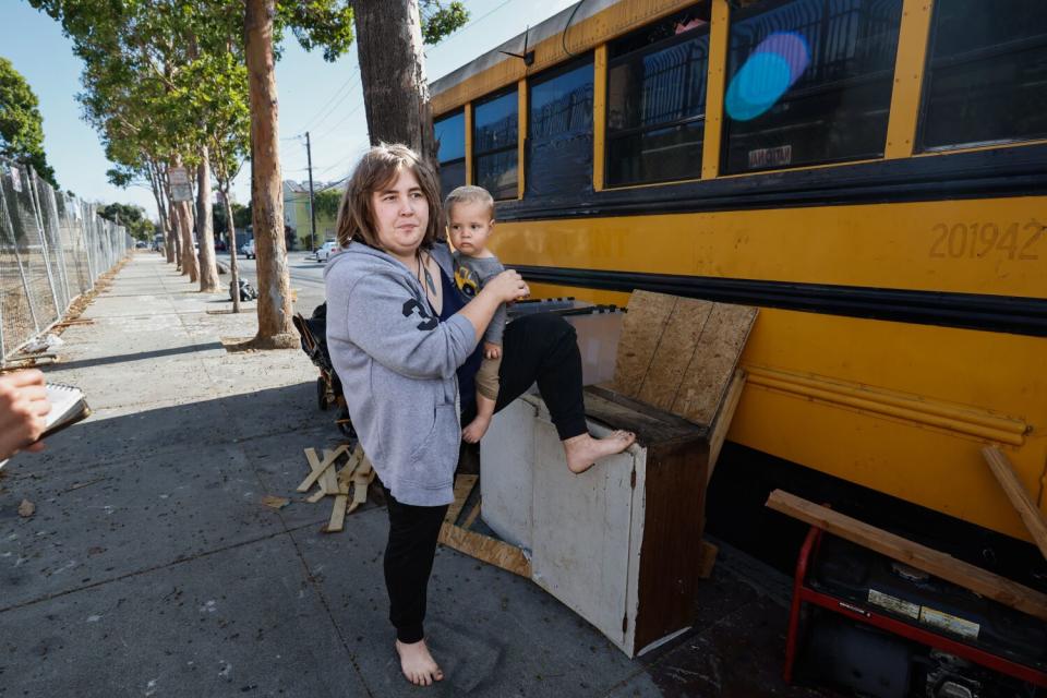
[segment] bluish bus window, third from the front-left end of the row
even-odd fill
[[[592,190],[592,56],[531,82],[528,196]]]

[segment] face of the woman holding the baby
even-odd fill
[[[395,180],[373,192],[371,210],[382,249],[401,261],[413,257],[429,226],[429,202],[414,172],[401,168]]]

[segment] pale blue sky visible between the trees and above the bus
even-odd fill
[[[435,80],[468,63],[527,26],[570,7],[575,0],[465,0],[470,22],[436,46],[426,47],[425,71]],[[148,189],[112,186],[112,164],[95,131],[81,119],[76,94],[83,68],[58,23],[24,0],[0,0],[0,56],[9,59],[36,93],[44,117],[44,151],[58,183],[87,201],[137,204],[156,216]],[[369,145],[363,91],[356,47],[334,63],[320,51],[308,53],[288,33],[276,67],[284,179],[308,181],[305,141],[310,132],[313,180],[330,182],[348,174]],[[236,201],[250,198],[250,166],[233,186]]]

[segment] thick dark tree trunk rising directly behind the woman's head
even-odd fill
[[[356,0],[352,8],[371,144],[404,143],[435,165],[418,0]]]

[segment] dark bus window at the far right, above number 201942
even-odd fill
[[[1047,137],[1044,0],[938,0],[922,151]]]

